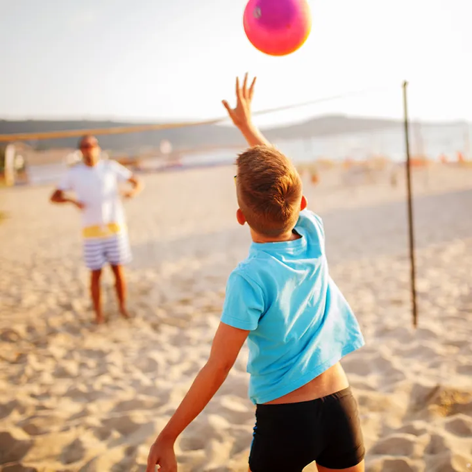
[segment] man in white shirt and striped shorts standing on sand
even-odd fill
[[[121,315],[126,310],[126,281],[123,265],[130,262],[131,252],[126,233],[123,206],[118,183],[128,182],[132,190],[126,198],[135,196],[142,185],[129,169],[118,162],[100,159],[99,142],[94,136],[83,136],[78,142],[82,162],[67,170],[57,189],[51,195],[53,203],[72,203],[82,212],[83,250],[85,264],[90,269],[90,293],[96,323],[105,321],[101,312],[101,270],[110,264],[115,275],[115,287]],[[74,192],[76,199],[65,195]]]

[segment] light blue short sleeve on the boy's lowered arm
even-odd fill
[[[221,321],[233,328],[253,331],[263,312],[264,296],[260,286],[233,271],[226,284]]]

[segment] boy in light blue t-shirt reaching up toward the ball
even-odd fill
[[[224,382],[248,339],[256,424],[252,472],[364,471],[357,404],[339,360],[364,344],[351,308],[328,275],[321,219],[305,210],[300,176],[251,122],[255,80],[224,101],[251,149],[237,158],[237,221],[248,258],[230,274],[208,362],[155,440],[147,472],[176,472],[174,442]]]

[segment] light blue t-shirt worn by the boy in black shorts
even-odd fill
[[[328,274],[321,218],[303,210],[294,241],[253,243],[230,274],[221,321],[250,330],[249,398],[267,403],[302,387],[364,345]]]

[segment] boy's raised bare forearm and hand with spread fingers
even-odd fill
[[[244,76],[242,87],[239,78],[236,78],[236,108],[231,108],[224,100],[223,105],[235,126],[241,131],[249,146],[271,146],[271,143],[262,135],[251,117],[251,102],[253,100],[255,78],[248,88],[248,74]]]

